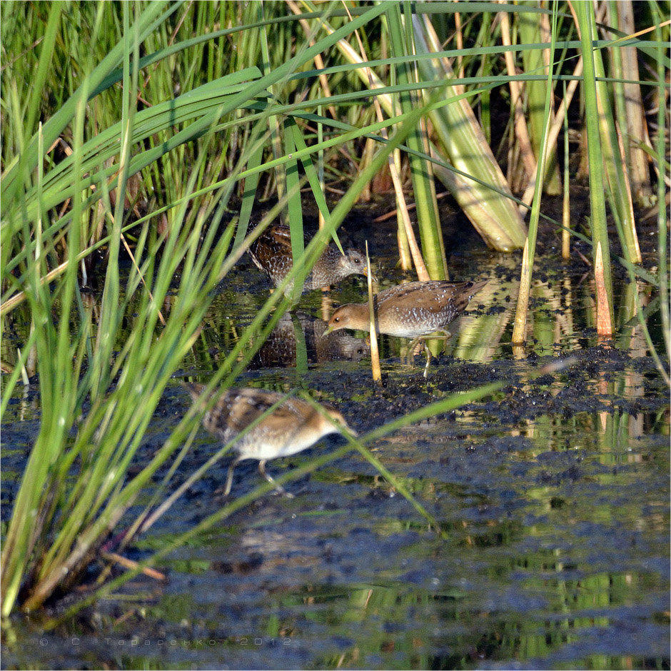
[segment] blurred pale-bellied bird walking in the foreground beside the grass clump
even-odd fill
[[[183,386],[194,401],[201,399],[205,385],[184,383]],[[218,393],[213,391],[213,395]],[[228,468],[224,496],[231,493],[233,469],[245,459],[258,459],[259,473],[269,483],[275,484],[275,480],[266,473],[266,461],[296,454],[311,447],[329,433],[339,433],[338,427],[329,418],[347,429],[350,434],[356,435],[335,408],[323,405],[326,415],[322,415],[304,400],[248,387],[227,389],[213,408],[205,413],[203,426],[226,445],[278,401],[281,403],[271,413],[233,443],[233,449],[238,452],[238,456]],[[279,493],[293,498],[280,485],[275,484],[275,488]]]

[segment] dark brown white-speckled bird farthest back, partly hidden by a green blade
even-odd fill
[[[276,224],[266,228],[252,243],[249,255],[257,268],[266,273],[273,284],[278,286],[293,268],[291,233],[288,226]],[[331,243],[317,259],[306,278],[303,291],[326,288],[350,275],[366,274],[365,258],[358,251],[348,249],[343,256]],[[293,282],[285,291],[289,293],[292,289]]]

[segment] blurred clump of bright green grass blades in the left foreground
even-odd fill
[[[226,226],[220,234],[218,221],[221,216],[206,220],[202,201],[199,202],[198,194],[194,193],[206,164],[206,152],[201,151],[191,166],[171,226],[162,235],[156,235],[156,231],[151,231],[149,218],[135,222],[135,265],[126,286],[121,286],[118,258],[125,228],[123,205],[128,176],[138,165],[133,164],[138,155],[131,156],[131,146],[141,141],[138,133],[148,131],[142,126],[148,116],[135,109],[140,18],[136,17],[136,22],[131,24],[130,11],[124,6],[122,44],[126,58],[123,58],[121,121],[109,129],[102,140],[98,138],[96,146],[99,152],[101,146],[117,146],[118,176],[113,178],[112,184],[118,189],[118,196],[114,208],[109,201],[111,184],[96,178],[95,169],[91,167],[103,163],[104,156],[96,153],[91,144],[94,140],[84,140],[86,101],[101,76],[97,68],[92,68],[74,94],[74,101],[61,107],[61,110],[71,109],[74,116],[72,155],[63,162],[64,165],[59,163],[52,169],[64,185],[59,187],[62,191],[58,191],[54,179],[42,170],[40,157],[44,156],[46,127],[40,127],[34,142],[34,156],[30,158],[36,163],[36,186],[33,188],[29,183],[30,171],[18,171],[14,175],[15,181],[11,181],[11,188],[19,194],[20,206],[8,205],[4,211],[4,226],[20,236],[20,244],[14,258],[4,266],[3,281],[5,287],[11,287],[9,291],[20,288],[28,302],[33,335],[27,345],[36,351],[41,396],[41,428],[21,480],[3,548],[4,615],[14,610],[17,603],[24,610],[34,610],[56,590],[72,585],[133,504],[138,492],[148,486],[158,468],[177,453],[197,418],[186,418],[150,463],[138,475],[128,476],[128,466],[141,445],[163,389],[196,338],[212,288],[230,271],[250,241],[248,237],[235,246],[233,224]],[[333,39],[338,37],[335,34]],[[203,131],[206,138],[212,138],[213,129],[223,113],[246,104],[265,91],[271,81],[281,81],[300,62],[297,59],[285,64],[280,72],[271,71],[239,94],[226,91],[228,98],[215,99],[214,111],[191,123],[188,132],[181,138],[178,133],[172,143],[177,146],[178,139],[185,141]],[[193,100],[193,96],[184,94],[176,105],[171,106],[172,111],[180,109],[180,105],[188,106]],[[207,104],[202,100],[201,103]],[[211,106],[211,99],[208,104]],[[196,109],[201,108],[196,105]],[[267,123],[272,111],[264,111],[258,123]],[[156,112],[161,118],[162,112]],[[403,141],[423,112],[423,109],[413,111],[401,126],[402,132],[375,157],[370,173],[386,161],[388,151]],[[61,118],[61,123],[63,121]],[[166,119],[163,118],[161,123],[167,123]],[[152,126],[151,130],[156,128]],[[51,123],[50,132],[54,133],[54,123]],[[253,135],[263,137],[258,130]],[[293,143],[294,148],[303,148],[301,138],[296,135]],[[236,172],[219,185],[223,198],[220,211],[228,203],[231,186],[243,174],[241,169],[253,150],[253,146],[248,147]],[[169,149],[163,147],[161,151]],[[148,161],[156,154],[149,150],[149,156],[142,156],[142,153],[139,156],[140,161]],[[28,160],[24,158],[24,161]],[[294,159],[289,155],[282,156],[281,160],[291,163]],[[26,164],[26,167],[29,166]],[[259,166],[264,167],[267,169],[268,166]],[[65,186],[62,175],[70,176],[71,185]],[[99,187],[94,196],[88,195],[91,183]],[[296,263],[287,281],[309,271],[329,236],[343,221],[362,184],[360,179],[351,191],[353,196],[348,195],[340,201],[323,231],[306,248],[305,263]],[[294,184],[289,188],[287,198],[296,197],[297,186]],[[52,211],[58,198],[70,198],[71,209],[56,221],[56,225],[45,228],[42,215]],[[81,254],[86,256],[90,251],[85,246],[86,238],[81,235],[81,223],[98,201],[108,221],[108,258],[101,316],[96,320],[86,308],[86,301],[82,300],[78,273]],[[188,213],[193,211],[196,216],[188,218]],[[258,235],[258,231],[253,235]],[[67,258],[61,274],[47,279],[48,263],[44,250],[56,248],[56,236],[66,236]],[[9,276],[8,266],[20,268],[21,276]],[[178,270],[181,279],[173,289],[173,277]],[[53,283],[51,291],[49,281]],[[173,293],[171,309],[163,315],[161,306],[168,292]],[[213,385],[225,376],[224,384],[231,383],[253,355],[255,348],[249,346],[251,339],[261,333],[255,340],[255,347],[258,347],[263,342],[263,335],[271,330],[287,307],[288,299],[283,298],[281,291],[268,299],[221,365],[212,380]],[[268,321],[273,308],[277,309]],[[59,315],[56,323],[51,321],[52,314]],[[121,324],[129,318],[131,330],[122,340]],[[71,332],[73,320],[78,325],[74,333]],[[243,350],[245,355],[238,356]],[[23,357],[18,363],[15,373],[20,370]],[[11,393],[17,379],[13,375],[9,380],[6,394]],[[183,451],[180,454],[183,455]]]

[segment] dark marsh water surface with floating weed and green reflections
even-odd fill
[[[16,617],[3,667],[669,668],[668,390],[645,340],[629,327],[597,343],[585,269],[548,256],[521,352],[510,345],[518,262],[476,251],[450,265],[455,280],[490,284],[455,338],[435,344],[443,350],[428,380],[423,357],[409,365],[407,343],[383,338],[385,388],[373,391],[365,338],[320,338],[320,293],[303,298],[238,380],[309,389],[359,433],[508,380],[491,398],[371,445],[442,533],[350,454],[288,483],[293,500],[266,495],[170,555],[157,566],[165,583],[136,578],[48,634]],[[221,286],[185,374],[211,375],[267,286],[245,266]],[[618,288],[620,323],[631,288]],[[362,295],[350,280],[332,300]],[[530,377],[567,355],[576,360],[566,370]],[[177,384],[166,390],[140,460],[187,407]],[[39,422],[35,389],[16,396],[6,422],[4,519]],[[268,470],[286,473],[341,444],[328,438]],[[202,431],[178,480],[215,446]],[[227,466],[208,471],[128,556],[216,510]],[[258,483],[255,463],[241,464],[233,496]]]

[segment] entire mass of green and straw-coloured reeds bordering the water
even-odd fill
[[[21,343],[3,350],[1,412],[33,376],[41,405],[2,530],[4,616],[74,585],[169,463],[126,540],[146,528],[205,408],[192,408],[139,473],[128,467],[198,340],[213,288],[264,228],[276,216],[288,223],[294,264],[280,288],[296,289],[268,298],[208,390],[232,385],[246,368],[380,176],[395,188],[400,263],[418,278],[448,276],[438,183],[490,248],[523,250],[513,340],[524,343],[541,200],[559,193],[562,180],[567,188],[569,158],[559,148],[579,138],[589,221],[551,223],[565,254],[572,238],[592,245],[595,325],[604,337],[617,331],[611,266],[625,266],[634,289],[621,323],[640,321],[667,376],[666,4],[603,1],[595,14],[583,1],[7,1],[0,12],[0,316],[3,335],[29,325],[16,327]],[[303,197],[321,213],[321,230],[305,247]],[[268,198],[270,213],[251,226]],[[649,264],[637,238],[642,208],[656,208]],[[123,273],[121,259],[130,261]],[[85,291],[94,281],[99,306]],[[659,352],[647,329],[652,308],[644,313],[639,299],[650,287],[660,298]],[[495,388],[350,436],[313,468],[358,449],[393,480],[367,443]]]

